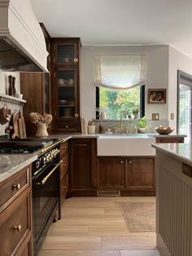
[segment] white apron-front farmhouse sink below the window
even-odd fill
[[[99,135],[98,156],[155,156],[155,137],[148,135]]]

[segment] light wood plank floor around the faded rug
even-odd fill
[[[129,232],[118,201],[155,197],[72,197],[53,223],[39,256],[159,256],[155,232]]]

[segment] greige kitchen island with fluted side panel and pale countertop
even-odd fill
[[[163,256],[190,256],[192,230],[192,146],[153,144],[156,149],[156,233]]]

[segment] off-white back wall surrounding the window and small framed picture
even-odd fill
[[[168,46],[82,46],[81,51],[81,116],[95,117],[94,57],[95,55],[146,54],[146,118],[159,113],[168,119],[168,104],[147,104],[148,88],[168,90]],[[167,91],[168,93],[168,91]]]

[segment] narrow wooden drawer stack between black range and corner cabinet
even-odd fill
[[[60,143],[60,205],[63,204],[68,194],[68,141]]]

